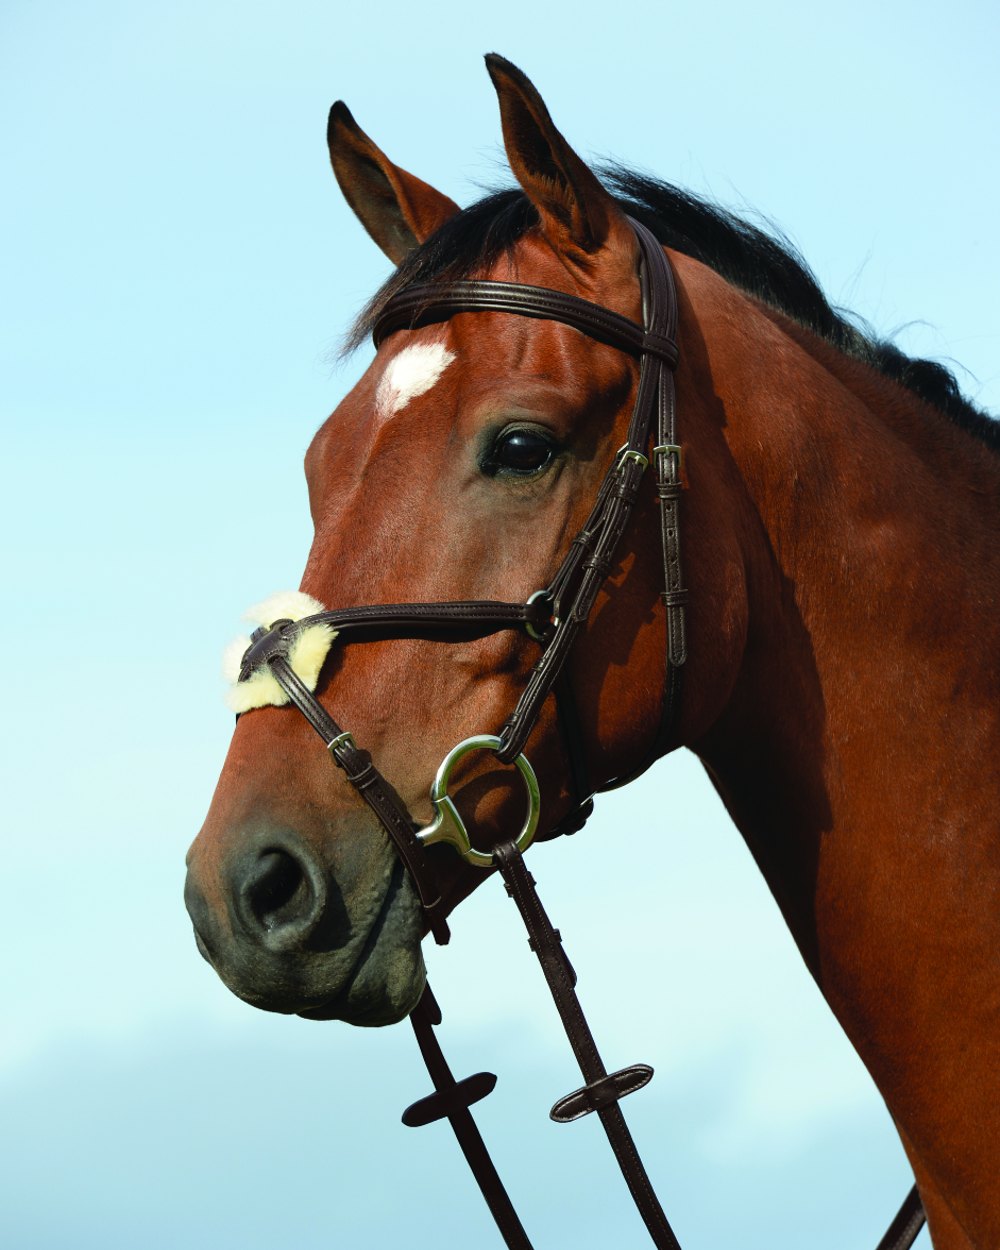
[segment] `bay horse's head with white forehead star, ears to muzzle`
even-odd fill
[[[499,58],[490,72],[522,194],[465,214],[394,165],[342,105],[331,110],[338,180],[400,266],[374,308],[461,275],[565,292],[641,324],[640,250],[625,212],[524,75]],[[478,310],[386,334],[306,456],[315,522],[306,609],[538,595],[628,442],[638,378],[636,355],[556,320]],[[655,492],[644,492],[570,660],[581,739],[572,749],[585,760],[588,795],[555,699],[531,729],[542,835],[592,790],[655,758],[666,612],[650,544],[658,526]],[[271,616],[290,610],[285,601]],[[539,629],[548,620],[541,611]],[[334,641],[318,695],[426,822],[441,760],[461,740],[500,731],[538,656],[538,635],[524,629]],[[189,908],[202,952],[248,1001],[391,1022],[422,988],[420,900],[379,820],[331,774],[300,716],[272,706],[241,716],[191,849]],[[476,845],[521,828],[518,775],[489,752],[462,760],[452,788]],[[442,910],[485,875],[444,848],[429,858]]]

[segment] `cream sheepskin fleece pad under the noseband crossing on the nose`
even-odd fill
[[[251,608],[244,618],[254,625],[270,629],[275,621],[300,621],[304,616],[315,616],[326,609],[311,595],[301,590],[280,590],[262,604]],[[289,650],[289,664],[310,690],[316,689],[320,669],[336,638],[336,630],[330,625],[306,626]],[[240,661],[250,646],[249,638],[235,638],[225,649],[222,656],[222,675],[229,681],[226,704],[235,712],[250,711],[254,708],[281,708],[289,696],[275,681],[269,669],[258,669],[246,681],[240,681]]]

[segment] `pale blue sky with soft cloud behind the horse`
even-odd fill
[[[409,1030],[255,1012],[181,904],[231,729],[219,655],[298,584],[301,456],[388,271],[329,171],[330,102],[468,202],[502,168],[500,51],[581,151],[766,214],[998,410],[996,14],[0,2],[0,1244],[499,1245],[446,1130],[399,1125]],[[905,1160],[696,761],[598,812],[532,870],[605,1058],[656,1068],[628,1111],[685,1248],[794,1250],[806,1219],[814,1250],[872,1246]],[[548,1120],[578,1079],[500,888],[454,930],[444,1041],[500,1072],[480,1120],[539,1250],[568,1215],[580,1250],[641,1245],[599,1126]]]

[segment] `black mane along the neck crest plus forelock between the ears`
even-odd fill
[[[950,370],[932,360],[908,356],[856,318],[834,309],[786,239],[668,182],[618,165],[600,172],[621,208],[665,246],[700,260],[845,355],[864,360],[1000,451],[1000,421],[965,399]],[[454,281],[481,272],[512,252],[536,221],[534,206],[518,189],[494,191],[464,209],[410,252],[376,291],[352,326],[348,349],[371,334],[379,312],[398,291],[416,282]]]

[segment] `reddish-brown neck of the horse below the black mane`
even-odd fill
[[[688,741],[905,1121],[906,1089],[935,1080],[911,1070],[916,1039],[930,1052],[934,1031],[914,950],[930,926],[950,934],[952,951],[924,972],[958,1001],[956,964],[966,961],[965,985],[978,944],[1000,949],[1000,458],[784,318],[732,292],[699,306],[698,294],[694,376],[680,395],[699,422],[688,499],[705,476],[728,496],[710,515],[691,509],[692,615],[699,582],[712,579],[695,564],[705,526],[728,528],[716,545],[740,546],[742,602],[729,611],[741,629],[726,635],[739,646],[711,658],[734,674],[728,699]],[[692,620],[692,699],[699,640],[711,649],[716,636]],[[962,915],[995,919],[956,926],[956,898]],[[995,968],[978,990],[996,1002],[990,976]],[[884,1019],[886,992],[898,1004],[922,994],[922,1005]],[[911,1136],[921,1134],[918,1116]]]

